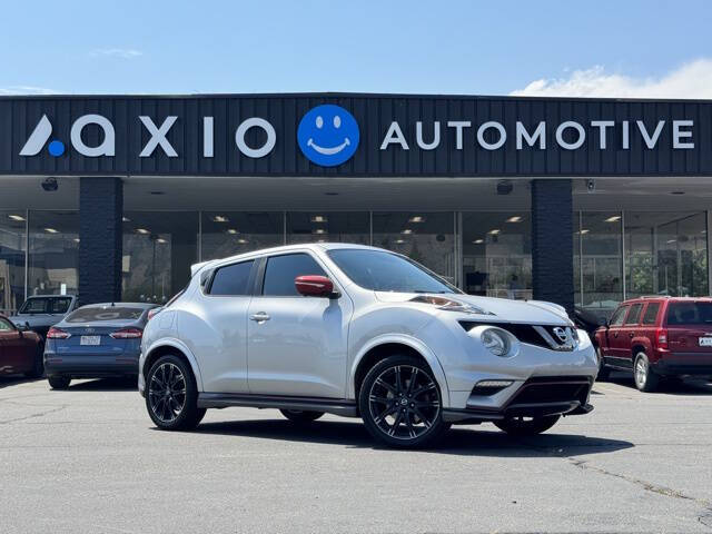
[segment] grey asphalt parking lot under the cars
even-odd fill
[[[0,532],[711,532],[712,385],[621,378],[592,403],[535,438],[403,452],[249,408],[159,432],[130,383],[0,378]]]

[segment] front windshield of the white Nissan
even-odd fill
[[[374,291],[462,293],[437,275],[395,254],[342,248],[329,250],[329,258],[354,284]]]

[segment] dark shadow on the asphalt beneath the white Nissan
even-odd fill
[[[248,436],[301,443],[344,445],[355,448],[387,449],[378,445],[360,423],[317,421],[295,425],[279,419],[250,419],[225,423],[202,423],[196,434]],[[612,453],[634,445],[621,439],[591,437],[581,434],[557,433],[554,427],[546,434],[515,438],[492,425],[453,427],[438,444],[421,452],[469,456],[496,457],[570,457],[586,454]]]

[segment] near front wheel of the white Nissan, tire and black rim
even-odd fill
[[[396,355],[368,372],[358,406],[372,436],[390,447],[414,448],[434,444],[449,428],[442,398],[427,364]]]

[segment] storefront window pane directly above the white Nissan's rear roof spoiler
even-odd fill
[[[204,211],[202,260],[284,245],[281,211]]]

